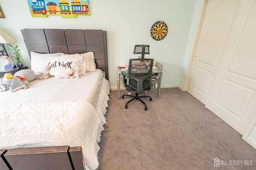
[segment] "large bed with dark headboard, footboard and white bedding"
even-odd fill
[[[96,169],[110,90],[106,31],[23,29],[22,35],[35,72],[56,56],[75,54],[92,70],[0,93],[0,169]]]

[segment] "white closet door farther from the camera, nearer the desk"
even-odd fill
[[[241,0],[209,0],[187,91],[206,104]]]

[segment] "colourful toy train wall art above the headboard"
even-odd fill
[[[90,16],[89,0],[27,0],[32,17]]]

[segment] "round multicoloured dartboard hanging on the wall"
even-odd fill
[[[163,21],[155,22],[151,27],[151,37],[157,41],[164,39],[167,35],[167,25]]]

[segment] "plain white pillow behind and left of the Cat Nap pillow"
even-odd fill
[[[44,72],[44,67],[48,64],[49,57],[56,57],[60,56],[62,53],[36,53],[31,51],[30,58],[31,58],[31,70],[34,72]]]

